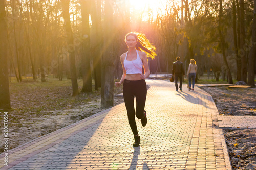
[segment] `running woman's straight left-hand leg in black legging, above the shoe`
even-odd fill
[[[134,87],[133,81],[124,80],[123,83],[123,99],[127,110],[129,125],[133,131],[133,135],[138,135],[137,125],[135,121],[135,109],[134,109]]]

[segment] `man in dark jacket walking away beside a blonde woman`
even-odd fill
[[[182,91],[182,75],[185,75],[183,63],[180,61],[180,57],[176,57],[176,62],[173,64],[173,75],[175,75],[175,87],[178,91],[178,78],[180,78],[180,91]]]

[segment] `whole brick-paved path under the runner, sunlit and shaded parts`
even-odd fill
[[[140,147],[132,147],[122,103],[10,150],[8,166],[1,161],[0,168],[231,169],[211,96],[197,87],[177,92],[174,83],[146,82],[146,127],[136,119]]]

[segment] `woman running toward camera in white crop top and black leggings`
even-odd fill
[[[144,34],[130,32],[125,36],[125,42],[128,51],[120,56],[123,75],[115,86],[119,87],[123,83],[123,99],[127,110],[129,125],[132,129],[135,142],[134,147],[140,144],[135,115],[141,119],[142,126],[147,124],[147,114],[144,110],[146,102],[146,82],[145,79],[150,76],[148,68],[147,55],[151,58],[156,56],[156,48],[150,44]],[[142,73],[144,68],[144,74]],[[136,98],[136,111],[134,108],[134,97]]]

